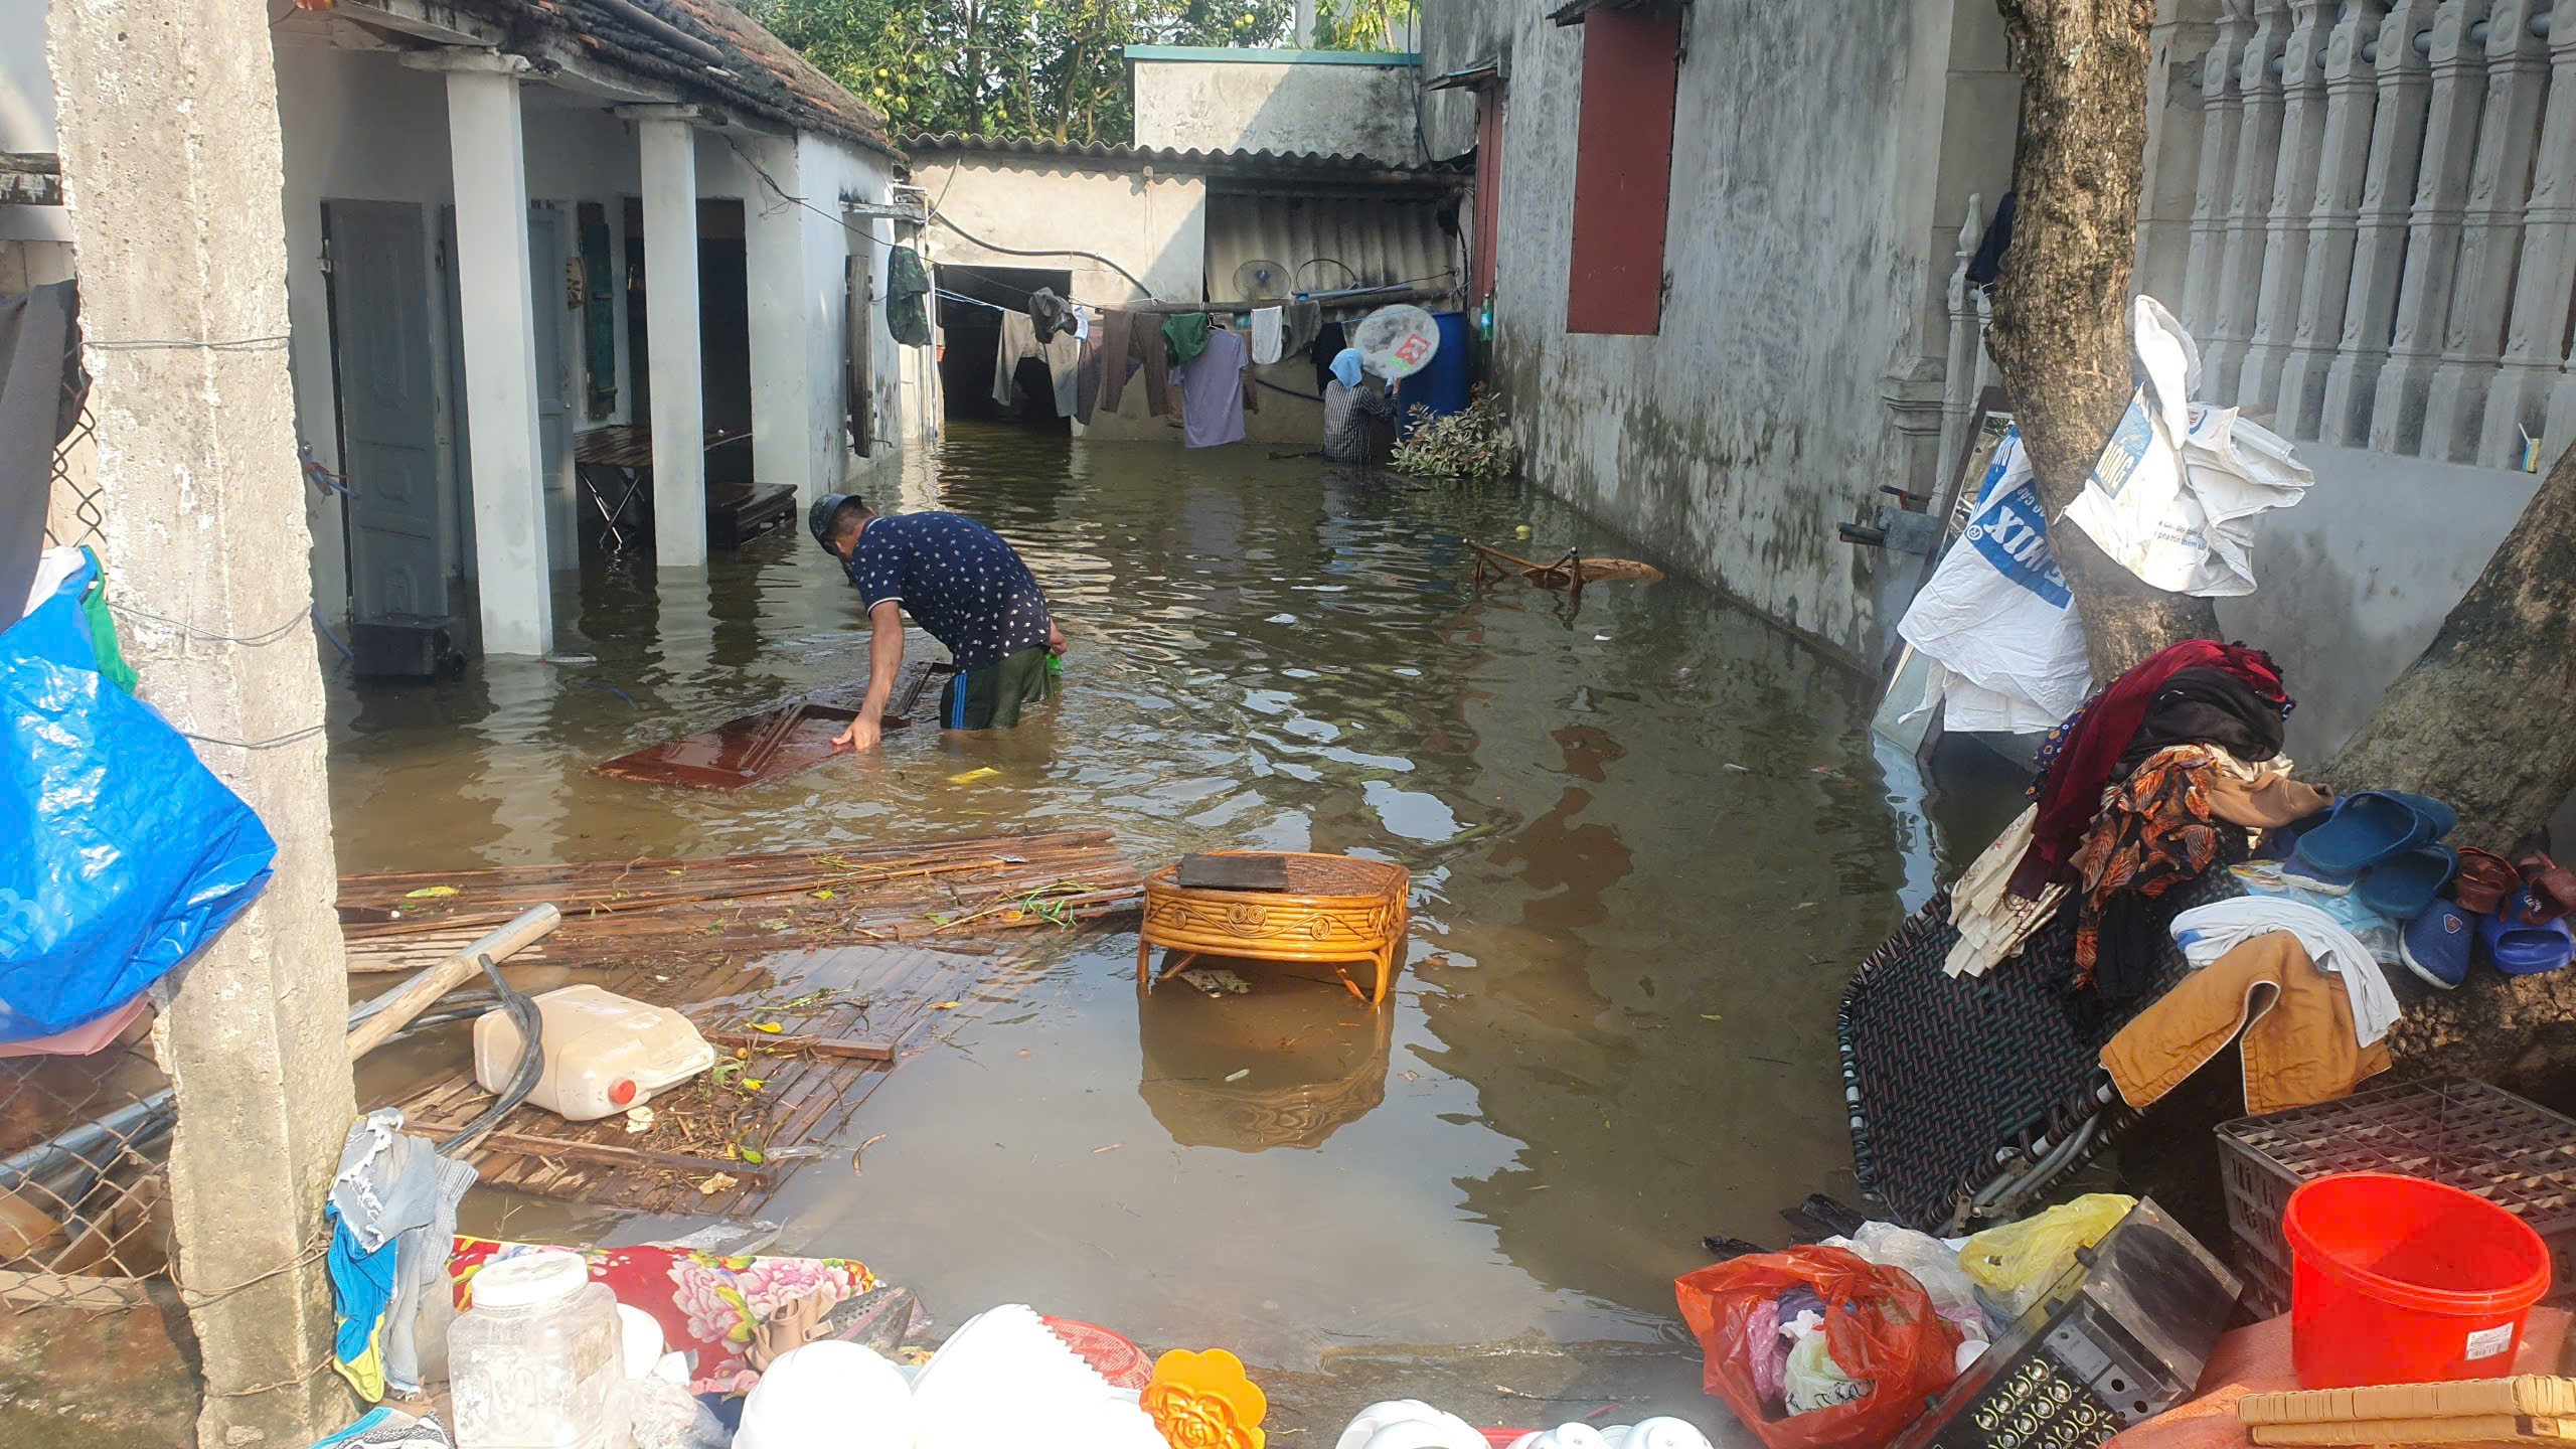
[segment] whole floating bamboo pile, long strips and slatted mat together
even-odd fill
[[[639,1212],[750,1214],[837,1142],[907,1047],[1007,998],[1020,972],[997,954],[999,933],[1072,928],[1136,910],[1141,895],[1108,830],[1054,830],[343,877],[340,933],[350,972],[407,972],[554,902],[564,923],[513,967],[580,967],[603,990],[672,1006],[721,1034],[719,1052],[742,1065],[657,1098],[647,1132],[623,1116],[574,1124],[520,1106],[469,1152],[482,1181]],[[768,1036],[884,1044],[894,1060],[781,1049]],[[399,1106],[415,1132],[443,1137],[489,1101],[459,1052],[443,1075],[371,1106]],[[762,1160],[744,1160],[744,1147]],[[703,1191],[716,1173],[732,1183]]]

